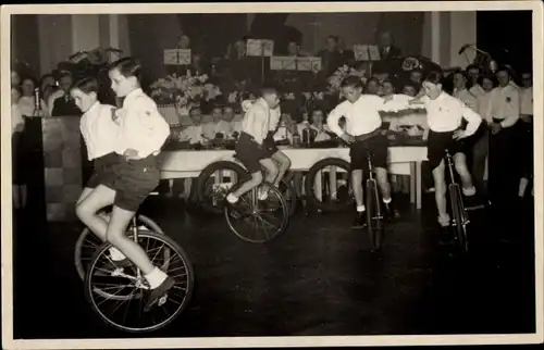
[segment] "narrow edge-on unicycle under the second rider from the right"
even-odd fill
[[[380,252],[383,242],[384,216],[378,192],[378,183],[372,173],[372,153],[367,152],[369,177],[366,180],[367,230],[374,252]]]

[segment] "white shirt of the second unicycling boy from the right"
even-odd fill
[[[383,99],[375,95],[361,95],[355,103],[345,100],[331,111],[326,125],[331,132],[342,136],[344,130],[338,125],[338,121],[344,116],[346,133],[349,135],[360,136],[372,133],[382,125],[379,111],[383,104]]]

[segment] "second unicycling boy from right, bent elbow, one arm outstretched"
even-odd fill
[[[366,223],[362,193],[363,170],[367,170],[367,153],[372,153],[372,164],[382,192],[388,216],[393,216],[391,207],[391,186],[387,178],[387,137],[381,133],[382,118],[380,109],[383,99],[375,95],[362,95],[362,82],[349,76],[342,84],[342,93],[346,98],[331,111],[326,124],[331,132],[350,145],[351,186],[357,202],[354,227],[363,227]],[[346,120],[346,130],[338,125]]]

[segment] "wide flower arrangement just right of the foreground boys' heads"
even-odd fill
[[[151,84],[151,98],[158,104],[176,104],[189,110],[201,101],[212,101],[222,95],[221,89],[208,82],[208,75],[168,75]]]

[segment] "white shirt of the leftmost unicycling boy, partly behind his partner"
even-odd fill
[[[121,127],[113,121],[114,110],[113,105],[96,102],[79,120],[89,161],[115,151]]]

